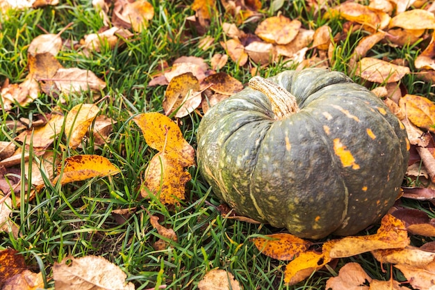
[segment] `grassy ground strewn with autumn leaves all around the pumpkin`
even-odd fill
[[[0,289],[433,289],[434,13],[0,0]],[[402,196],[358,236],[308,241],[237,216],[196,167],[208,108],[304,67],[345,72],[409,135]]]

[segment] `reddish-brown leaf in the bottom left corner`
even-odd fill
[[[0,265],[0,289],[10,277],[27,269],[24,256],[14,249],[0,251]]]

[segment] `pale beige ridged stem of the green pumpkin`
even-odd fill
[[[269,98],[272,111],[278,120],[299,111],[295,96],[277,83],[263,79],[261,76],[254,76],[249,80],[249,87],[263,92]]]

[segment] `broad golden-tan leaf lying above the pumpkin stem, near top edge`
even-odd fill
[[[295,39],[301,25],[297,19],[290,20],[283,15],[273,16],[258,24],[255,34],[266,42],[287,45]]]

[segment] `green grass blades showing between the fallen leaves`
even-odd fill
[[[67,140],[59,138],[54,142],[53,152],[60,162],[76,154],[99,154],[110,159],[122,172],[113,177],[65,186],[52,186],[47,179],[47,186],[33,201],[24,202],[22,195],[22,206],[13,213],[20,236],[15,238],[12,234],[0,233],[0,250],[14,248],[21,252],[28,265],[44,274],[47,287],[54,287],[51,280],[54,263],[69,255],[101,255],[120,266],[127,273],[128,280],[136,284],[136,289],[157,288],[161,284],[166,284],[167,289],[197,289],[197,282],[213,268],[233,273],[244,289],[324,289],[327,278],[334,273],[320,271],[295,287],[287,287],[283,281],[286,263],[261,255],[250,241],[254,236],[271,234],[279,229],[221,216],[216,209],[219,200],[195,166],[189,168],[192,180],[186,186],[186,200],[179,207],[165,207],[153,196],[149,200],[140,198],[140,172],[145,170],[156,152],[146,145],[140,129],[131,122],[131,115],[162,112],[165,93],[165,87],[147,87],[149,75],[156,72],[163,61],[172,63],[179,56],[199,56],[209,61],[213,54],[224,53],[218,42],[208,51],[197,48],[199,35],[184,25],[186,17],[193,14],[190,1],[151,3],[155,15],[148,29],[136,33],[126,44],[115,49],[102,49],[90,56],[83,56],[74,49],[60,51],[58,56],[64,67],[91,70],[106,81],[104,95],[108,97],[99,103],[99,107],[101,114],[117,120],[117,123],[106,145],[95,147],[90,136],[80,149],[71,150],[67,148]],[[293,1],[282,13],[297,17],[311,29],[329,24],[333,35],[343,28],[342,20],[314,15],[299,0]],[[206,33],[217,40],[224,38],[221,22],[231,21],[231,17],[221,18],[222,15],[223,8],[219,6]],[[272,15],[267,7],[265,15]],[[58,33],[70,22],[72,26],[63,32],[63,40],[79,40],[85,34],[96,33],[103,25],[90,1],[68,0],[59,6],[0,15],[0,84],[6,79],[11,83],[24,80],[28,73],[26,50],[33,38],[44,33],[42,29]],[[253,33],[255,26],[244,24],[241,28]],[[186,37],[186,33],[191,35]],[[334,70],[347,71],[356,40],[363,36],[362,31],[356,31],[336,45]],[[404,58],[411,62],[417,53],[418,47],[391,48],[385,44],[372,49],[373,57]],[[261,68],[260,72],[263,76],[270,76],[282,70],[286,70],[286,66],[279,61]],[[247,83],[250,77],[249,67],[238,67],[231,61],[222,71],[243,83]],[[360,79],[354,79],[361,83]],[[430,84],[414,79],[411,74],[404,78],[403,84],[409,93],[434,97]],[[12,140],[19,134],[16,129],[6,126],[8,121],[50,113],[56,106],[65,113],[76,104],[94,102],[89,93],[69,95],[66,99],[67,102],[62,103],[55,97],[42,94],[25,108],[15,106],[12,111],[1,111],[0,140]],[[199,121],[199,115],[193,113],[183,118],[181,124],[183,136],[194,147]],[[24,187],[22,189],[24,191]],[[409,206],[427,209],[427,204],[422,203],[409,202]],[[126,208],[134,208],[136,213],[118,225],[110,212]],[[160,216],[162,225],[174,229],[178,242],[172,242],[166,250],[154,250],[152,245],[161,236],[149,223],[149,214]],[[387,273],[381,273],[379,263],[370,255],[341,259],[339,265],[346,261],[358,261],[372,277],[389,279],[389,268]]]

